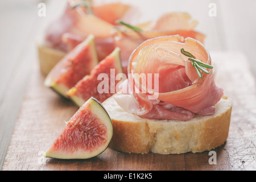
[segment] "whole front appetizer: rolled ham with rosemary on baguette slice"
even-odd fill
[[[212,68],[198,40],[176,35],[143,42],[130,56],[127,80],[103,103],[114,128],[110,147],[182,154],[224,144],[232,101],[215,84]],[[146,81],[150,74],[158,82]]]

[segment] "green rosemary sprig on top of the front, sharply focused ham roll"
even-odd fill
[[[207,73],[207,74],[209,74],[208,70],[205,69],[205,68],[209,68],[209,69],[213,68],[212,65],[205,64],[203,61],[200,61],[200,60],[196,59],[196,57],[193,56],[192,53],[190,53],[188,51],[185,51],[184,48],[181,48],[180,52],[183,55],[188,56],[188,60],[191,61],[191,64],[196,69],[197,75],[199,75],[200,78],[202,78],[202,73],[200,72],[200,70],[205,72],[205,73]]]

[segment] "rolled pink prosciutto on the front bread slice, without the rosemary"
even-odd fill
[[[212,69],[208,69],[209,74],[202,73],[200,78],[188,57],[180,53],[181,48],[211,64],[209,52],[195,39],[176,35],[147,40],[130,56],[127,69],[129,92],[124,93],[125,89],[122,89],[122,93],[115,96],[117,103],[142,118],[187,121],[194,114],[213,114],[223,90],[215,85]],[[157,74],[158,85],[155,82],[148,84],[135,76],[141,74]],[[125,100],[129,98],[130,106],[127,106]],[[175,107],[167,108],[163,104]]]

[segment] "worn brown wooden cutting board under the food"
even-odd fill
[[[92,159],[44,158],[78,107],[44,87],[35,62],[2,170],[255,170],[256,86],[250,65],[242,53],[211,56],[216,84],[233,100],[228,140],[212,150],[214,154],[126,154],[107,148]]]

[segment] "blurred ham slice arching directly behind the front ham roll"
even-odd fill
[[[139,44],[159,36],[180,35],[184,38],[190,37],[204,43],[205,36],[195,31],[196,20],[191,20],[187,13],[169,13],[161,16],[156,22],[138,24],[142,32],[119,31],[114,34],[115,46],[121,48],[121,60],[124,69],[128,64],[131,53]]]

